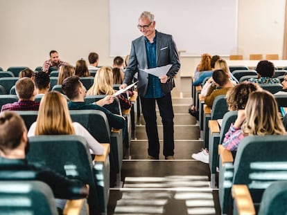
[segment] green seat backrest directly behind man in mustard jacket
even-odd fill
[[[214,104],[211,108],[211,120],[222,119],[225,113],[228,111],[226,102],[226,95],[218,95],[214,99]]]

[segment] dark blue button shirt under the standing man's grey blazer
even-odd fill
[[[153,38],[153,43],[145,37],[146,57],[148,58],[148,68],[157,67],[157,35]],[[157,98],[164,96],[159,77],[148,74],[148,89],[145,98]]]

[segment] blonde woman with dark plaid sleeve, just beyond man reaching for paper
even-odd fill
[[[113,95],[115,93],[113,86],[112,68],[109,66],[101,67],[95,75],[94,84],[87,91],[87,95]],[[129,109],[131,102],[123,95],[118,95],[122,109]]]

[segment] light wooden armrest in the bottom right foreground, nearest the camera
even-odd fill
[[[235,200],[239,215],[254,215],[255,209],[250,196],[249,189],[246,185],[233,185],[232,197]]]

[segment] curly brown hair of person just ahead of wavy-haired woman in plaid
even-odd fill
[[[227,92],[227,105],[229,111],[245,109],[249,94],[261,90],[261,87],[252,82],[241,82]]]

